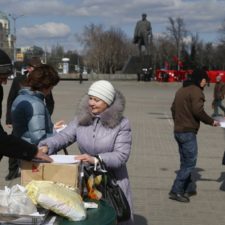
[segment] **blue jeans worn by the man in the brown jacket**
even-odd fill
[[[196,134],[193,132],[174,133],[180,153],[180,169],[171,191],[183,194],[196,191],[196,184],[192,181],[191,173],[197,163],[198,145]]]

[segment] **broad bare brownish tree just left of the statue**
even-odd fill
[[[102,25],[91,24],[84,28],[78,41],[84,45],[87,65],[101,73],[122,69],[132,52],[131,40],[120,28],[104,30]]]

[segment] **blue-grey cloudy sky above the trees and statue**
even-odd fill
[[[58,43],[66,50],[79,50],[75,34],[84,26],[117,27],[132,38],[142,13],[147,13],[153,35],[166,31],[168,17],[180,17],[200,39],[217,42],[225,0],[0,0],[0,10],[18,17],[17,46],[50,49]]]

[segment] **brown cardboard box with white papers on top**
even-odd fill
[[[21,185],[25,186],[32,180],[48,180],[78,187],[79,163],[37,163],[21,162]]]

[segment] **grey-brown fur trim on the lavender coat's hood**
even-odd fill
[[[90,111],[88,106],[89,96],[86,94],[80,101],[78,106],[77,118],[78,124],[81,126],[89,126],[93,123],[96,117]],[[123,112],[125,109],[125,98],[123,94],[116,90],[116,95],[113,103],[98,117],[100,118],[102,125],[109,128],[116,127],[123,118]]]

